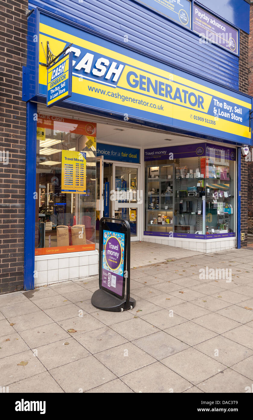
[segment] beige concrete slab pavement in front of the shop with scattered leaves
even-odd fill
[[[215,277],[218,268],[226,278]],[[97,310],[96,289],[93,276],[0,296],[0,386],[10,393],[251,387],[252,248],[132,268],[131,311]]]

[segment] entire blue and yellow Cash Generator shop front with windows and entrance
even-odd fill
[[[240,247],[252,98],[39,9],[28,26],[25,288],[97,274],[102,216],[128,220],[132,241]],[[69,57],[53,84],[47,45]]]

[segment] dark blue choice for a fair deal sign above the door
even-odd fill
[[[119,162],[139,163],[139,149],[132,147],[114,146],[112,144],[97,143],[97,156]]]

